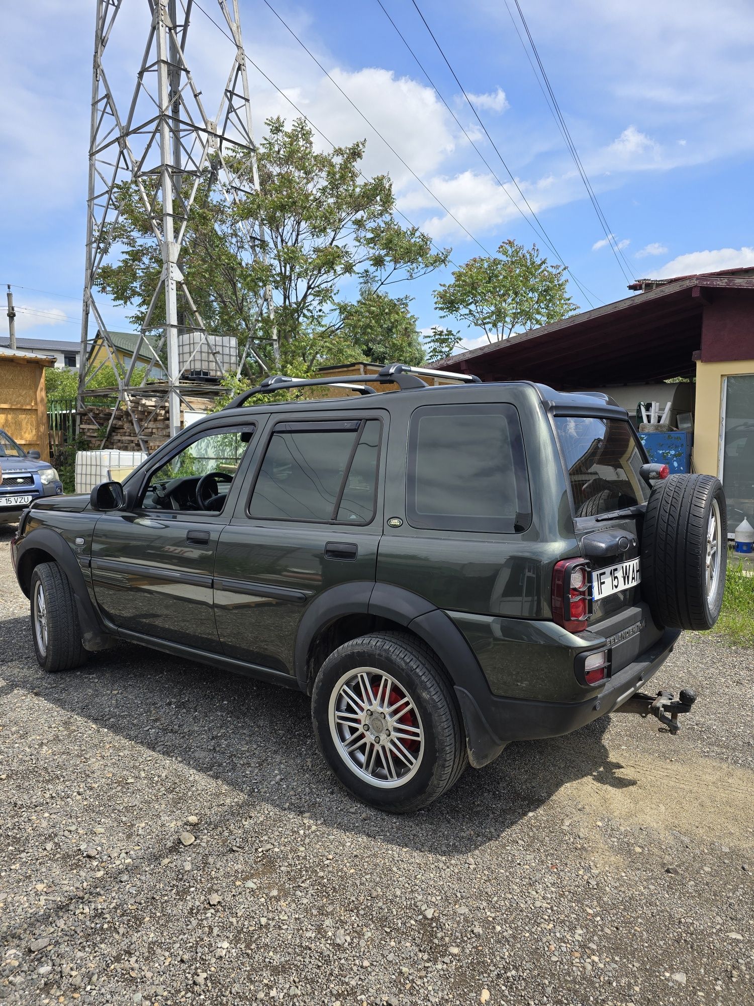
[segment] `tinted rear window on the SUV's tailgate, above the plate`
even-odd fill
[[[577,517],[646,501],[649,487],[639,475],[643,457],[627,421],[560,415],[555,427]]]

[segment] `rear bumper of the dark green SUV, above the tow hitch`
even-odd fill
[[[659,670],[680,635],[680,630],[666,629],[648,650],[610,678],[601,690],[580,702],[503,698],[491,692],[483,708],[470,692],[456,686],[472,765],[487,765],[512,740],[557,737],[611,712]]]

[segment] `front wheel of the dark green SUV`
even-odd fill
[[[56,562],[34,566],[29,591],[31,638],[44,671],[67,671],[86,659],[75,598]]]

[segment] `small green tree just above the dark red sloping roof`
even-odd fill
[[[456,270],[435,291],[434,303],[441,318],[468,322],[492,343],[575,311],[565,272],[541,258],[536,244],[525,248],[507,240],[497,256],[469,259]]]

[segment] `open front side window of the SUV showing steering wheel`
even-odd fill
[[[186,444],[151,473],[142,505],[219,512],[253,432],[253,425],[216,429]]]

